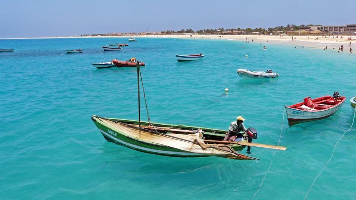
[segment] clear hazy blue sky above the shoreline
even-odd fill
[[[356,23],[355,0],[0,1],[0,38]]]

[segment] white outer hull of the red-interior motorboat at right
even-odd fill
[[[303,111],[286,106],[288,124],[289,126],[293,126],[297,123],[325,119],[335,114],[335,112],[340,109],[344,102],[345,101],[342,101],[340,102],[340,104],[337,104],[336,106],[331,107],[330,109],[321,111]]]

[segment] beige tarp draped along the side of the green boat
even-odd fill
[[[237,153],[234,149],[230,148],[228,145],[223,144],[204,144],[203,140],[199,138],[199,133],[196,134],[168,134],[159,135],[145,130],[140,130],[137,127],[132,127],[131,125],[126,125],[120,122],[113,122],[103,118],[99,118],[101,121],[106,123],[110,128],[116,132],[125,133],[127,136],[136,139],[143,140],[147,142],[152,142],[156,144],[161,144],[164,146],[180,149],[187,152],[205,154],[206,156],[218,156],[230,159],[256,159],[253,157],[245,156],[243,154]],[[172,137],[171,137],[172,136]],[[176,137],[176,138],[174,138]],[[188,141],[184,141],[184,140]]]

